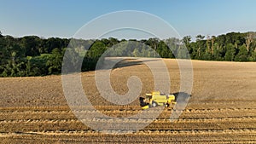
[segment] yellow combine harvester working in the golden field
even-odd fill
[[[176,102],[174,95],[164,95],[161,94],[160,91],[154,91],[151,94],[146,94],[146,98],[140,97],[140,103],[143,109],[148,109],[158,106],[169,107]]]

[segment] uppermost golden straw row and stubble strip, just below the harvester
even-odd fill
[[[77,113],[86,114],[93,118],[94,113],[96,111],[76,111]],[[101,111],[104,114],[113,117],[125,118],[131,115],[135,115],[141,110],[104,110]],[[148,114],[153,114],[154,112],[158,112],[158,110],[152,110],[152,112],[148,112]],[[170,118],[170,114],[172,113],[172,109],[164,110],[158,119]],[[185,109],[183,114],[179,119],[203,119],[203,118],[247,118],[247,117],[255,117],[256,109],[254,108],[215,108],[215,109]],[[76,118],[73,115],[73,112],[67,110],[30,110],[30,111],[0,111],[0,121],[2,120],[20,120],[20,119],[60,119],[60,118]]]

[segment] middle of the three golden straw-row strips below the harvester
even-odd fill
[[[85,119],[90,121],[91,119]],[[148,124],[148,119],[123,119],[109,120],[106,118],[94,118],[90,124],[116,125],[121,124],[125,128],[129,128],[129,124]],[[125,123],[126,122],[126,123]],[[127,125],[127,122],[129,124]],[[86,125],[82,124],[78,119],[27,119],[27,120],[4,120],[0,124],[5,130],[90,130]],[[68,127],[67,127],[68,125]],[[123,128],[119,127],[120,130]],[[212,118],[212,119],[179,119],[177,122],[171,123],[169,119],[157,119],[149,124],[145,130],[246,130],[256,129],[256,118]]]

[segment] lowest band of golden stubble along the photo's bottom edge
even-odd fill
[[[209,136],[211,135],[211,136]],[[255,130],[141,130],[126,135],[108,135],[95,131],[56,130],[28,131],[25,133],[0,133],[0,139],[9,141],[26,140],[26,143],[44,141],[44,143],[253,143]],[[61,140],[61,141],[60,141]]]

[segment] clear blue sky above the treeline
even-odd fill
[[[166,20],[183,37],[256,32],[256,0],[0,0],[0,31],[22,37],[73,37],[90,20],[139,10]]]

